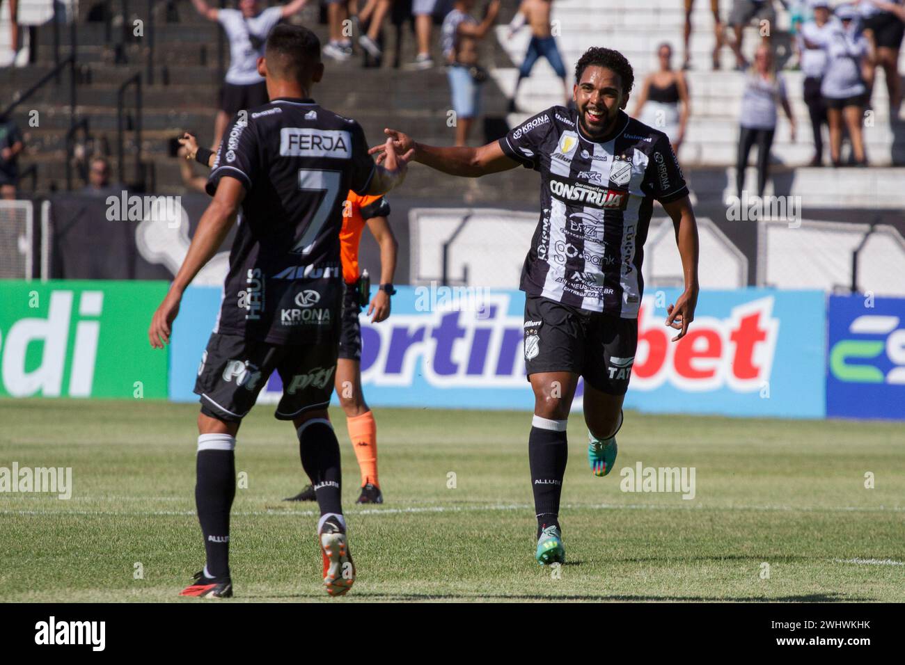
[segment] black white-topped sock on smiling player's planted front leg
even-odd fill
[[[568,444],[564,420],[534,416],[528,437],[531,489],[538,516],[538,537],[544,527],[559,526],[559,497],[566,475]]]

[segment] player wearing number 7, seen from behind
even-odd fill
[[[339,445],[327,413],[342,299],[343,196],[349,189],[385,194],[402,182],[411,155],[397,158],[387,141],[388,159],[376,166],[358,123],[310,98],[324,72],[310,30],[274,27],[257,66],[271,101],[237,114],[227,128],[207,185],[214,199],[148,329],[152,347],[169,342],[183,292],[241,208],[223,304],[195,384],[201,400],[195,503],[206,564],[180,595],[233,594],[235,437],[274,369],[286,386],[276,417],[293,424],[301,463],[315,480],[324,585],[331,595],[345,594],[355,567],[340,503]]]

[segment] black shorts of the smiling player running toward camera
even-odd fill
[[[525,297],[528,375],[572,372],[602,393],[625,394],[638,346],[638,319],[586,312]]]

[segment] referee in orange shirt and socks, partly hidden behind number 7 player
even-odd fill
[[[186,158],[200,161],[205,166],[214,166],[214,153],[205,148],[199,149],[194,136],[186,132],[179,138],[179,142],[182,144],[179,149]],[[183,166],[188,168],[187,163],[183,163]],[[191,171],[187,175],[183,171],[183,181],[186,186],[194,186],[195,178]],[[348,435],[361,472],[361,494],[356,503],[384,502],[377,480],[377,423],[361,390],[361,323],[358,321],[358,312],[364,294],[358,289],[361,279],[358,274],[358,246],[361,243],[361,232],[367,225],[380,247],[381,266],[380,286],[370,301],[367,316],[371,317],[371,323],[379,323],[390,315],[390,297],[395,294],[393,275],[396,252],[399,248],[393,229],[386,219],[388,214],[390,206],[383,196],[360,196],[350,190],[343,204],[342,231],[339,233],[339,254],[342,257],[346,295],[343,298],[335,385],[339,405],[346,412]],[[316,501],[313,482],[294,497],[283,500]]]

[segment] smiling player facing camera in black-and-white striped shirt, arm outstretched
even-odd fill
[[[592,48],[576,64],[576,109],[554,106],[483,147],[433,147],[386,129],[398,150],[452,176],[479,177],[516,166],[540,173],[540,219],[525,259],[525,362],[534,391],[529,466],[538,518],[535,556],[565,560],[559,498],[566,425],[578,378],[585,379],[587,458],[595,476],[613,469],[641,308],[643,245],[659,201],[672,218],[685,290],[667,308],[681,339],[698,299],[698,231],[669,138],[625,105],[632,66]],[[383,153],[382,147],[371,148]],[[378,163],[382,157],[377,158]]]

